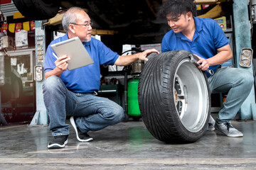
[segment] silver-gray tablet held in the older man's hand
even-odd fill
[[[77,69],[94,63],[92,57],[90,57],[78,37],[55,43],[50,45],[50,47],[53,48],[53,51],[59,57],[63,55],[68,55],[68,57],[70,57],[70,60],[68,61],[68,70]]]

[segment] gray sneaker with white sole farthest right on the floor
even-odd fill
[[[215,123],[215,129],[223,132],[228,137],[242,137],[243,134],[235,129],[231,123]]]

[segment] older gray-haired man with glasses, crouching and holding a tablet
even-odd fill
[[[101,130],[108,125],[121,122],[124,111],[121,106],[107,98],[95,96],[100,87],[100,64],[128,65],[137,60],[147,60],[151,49],[141,53],[119,56],[102,42],[91,38],[92,21],[82,8],[73,7],[63,16],[63,28],[67,33],[50,45],[78,37],[92,57],[94,64],[68,70],[70,58],[66,55],[53,57],[53,49],[48,46],[44,71],[43,98],[50,118],[49,128],[53,140],[48,148],[62,148],[68,143],[69,125],[66,115],[71,115],[70,123],[75,128],[80,142],[92,141],[89,131]]]

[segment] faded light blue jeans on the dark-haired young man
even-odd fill
[[[250,94],[254,82],[253,75],[245,69],[224,67],[210,76],[208,82],[212,93],[228,92],[224,107],[218,113],[216,121],[230,123]]]

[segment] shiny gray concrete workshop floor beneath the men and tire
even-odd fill
[[[8,125],[0,127],[0,169],[256,169],[256,122],[233,125],[244,137],[215,130],[186,145],[156,140],[142,121],[90,132],[88,143],[78,142],[70,127],[64,149],[47,149],[48,127]]]

